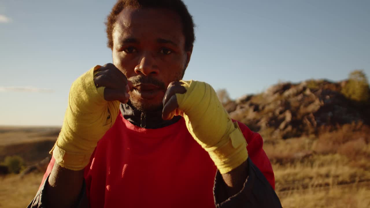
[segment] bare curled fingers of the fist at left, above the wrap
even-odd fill
[[[105,87],[105,100],[118,100],[121,103],[128,102],[130,98],[128,92],[132,88],[132,83],[127,80],[126,76],[114,64],[105,64],[96,70],[94,74],[95,86],[97,88]]]

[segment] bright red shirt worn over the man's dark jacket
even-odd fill
[[[261,136],[242,123],[239,126],[250,159],[275,189]],[[52,158],[43,182],[54,162]],[[91,208],[188,208],[195,204],[214,208],[215,174],[213,161],[189,134],[183,118],[167,127],[145,129],[120,114],[85,167],[86,192]]]

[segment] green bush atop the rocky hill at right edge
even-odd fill
[[[347,84],[342,88],[342,93],[344,96],[354,101],[369,101],[370,90],[365,73],[362,70],[351,72]]]

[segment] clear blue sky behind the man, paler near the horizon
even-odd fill
[[[115,0],[0,0],[0,125],[61,125],[71,83],[110,63]],[[368,0],[185,0],[196,42],[184,79],[232,98],[278,81],[370,75]]]

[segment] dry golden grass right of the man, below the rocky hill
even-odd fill
[[[283,207],[370,207],[369,132],[346,124],[317,137],[266,141]]]

